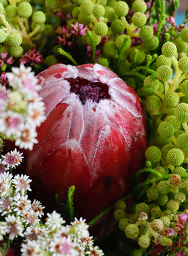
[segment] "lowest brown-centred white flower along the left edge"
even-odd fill
[[[9,239],[13,240],[13,238],[17,236],[24,236],[23,235],[23,228],[22,223],[20,221],[19,216],[7,216],[5,217],[5,232],[9,234]]]

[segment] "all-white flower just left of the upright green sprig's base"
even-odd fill
[[[46,226],[50,230],[55,230],[56,228],[60,228],[62,224],[65,223],[65,221],[62,219],[60,214],[58,214],[56,211],[52,212],[52,214],[47,214],[48,218],[46,220]]]

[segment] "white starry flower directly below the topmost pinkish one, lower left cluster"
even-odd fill
[[[22,153],[21,153],[22,154]],[[12,183],[15,185],[15,193],[18,191],[21,191],[21,194],[24,195],[26,190],[32,191],[30,189],[29,183],[32,182],[31,179],[29,179],[29,176],[21,174],[15,175],[14,179],[12,180]]]

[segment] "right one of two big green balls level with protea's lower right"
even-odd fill
[[[179,166],[184,161],[183,151],[179,148],[172,148],[167,154],[167,161],[173,166]]]

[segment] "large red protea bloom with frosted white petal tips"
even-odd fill
[[[77,216],[91,220],[124,195],[144,160],[145,119],[136,92],[98,64],[56,64],[37,75],[46,121],[27,174],[48,205],[75,185]],[[40,191],[39,191],[40,190]],[[44,200],[43,200],[44,201]]]

